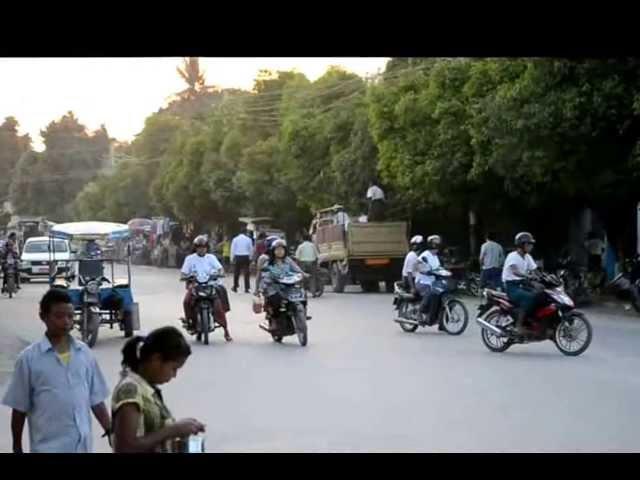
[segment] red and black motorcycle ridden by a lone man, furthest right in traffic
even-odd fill
[[[584,353],[593,337],[591,324],[575,309],[562,282],[555,275],[540,272],[528,283],[539,292],[543,306],[527,319],[529,325],[523,331],[514,326],[515,307],[507,294],[484,291],[486,302],[478,306],[476,322],[482,329],[480,334],[485,346],[492,352],[504,352],[515,344],[551,340],[564,355]]]

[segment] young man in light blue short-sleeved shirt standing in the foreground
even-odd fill
[[[12,409],[13,451],[22,453],[24,422],[29,422],[33,453],[90,453],[91,414],[110,432],[104,403],[109,389],[89,347],[75,340],[69,295],[49,290],[40,301],[44,337],[24,349],[2,399]]]

